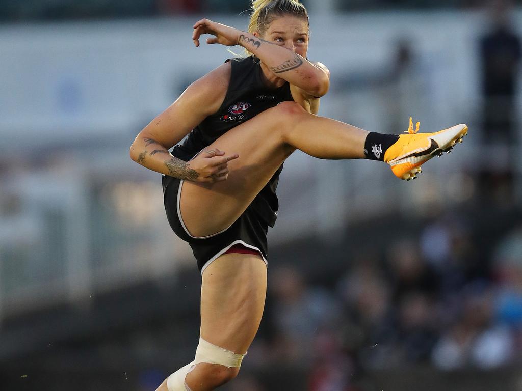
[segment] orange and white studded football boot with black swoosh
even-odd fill
[[[468,126],[455,125],[436,133],[417,133],[420,123],[413,130],[413,121],[410,117],[410,126],[407,135],[400,135],[399,139],[390,146],[384,154],[384,161],[392,167],[397,178],[415,179],[422,173],[421,165],[433,156],[442,156],[449,153],[457,142],[468,134]]]

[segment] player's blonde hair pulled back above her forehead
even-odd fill
[[[299,0],[252,0],[252,14],[248,23],[248,32],[263,34],[270,23],[280,16],[294,16],[309,23],[308,12]],[[252,53],[246,51],[247,55]]]

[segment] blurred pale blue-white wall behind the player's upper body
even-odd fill
[[[246,25],[246,17],[220,21],[243,29]],[[181,85],[229,56],[222,46],[195,48],[193,22],[0,28],[0,135],[31,144],[135,130],[168,106]],[[434,118],[425,125],[438,127],[441,116],[445,123],[454,123],[473,109],[478,92],[476,38],[483,25],[481,15],[455,11],[322,15],[312,18],[309,57],[329,66],[335,83],[342,72],[386,64],[396,40],[407,37],[428,79],[427,89],[418,93],[433,102]],[[0,149],[9,146],[2,143]]]

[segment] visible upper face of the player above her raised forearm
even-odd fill
[[[261,38],[306,57],[309,30],[306,20],[293,16],[281,16],[270,23]]]

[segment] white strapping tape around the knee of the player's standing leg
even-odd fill
[[[185,377],[192,371],[196,364],[205,362],[208,364],[219,364],[227,368],[239,368],[244,355],[236,355],[234,352],[212,345],[205,339],[199,337],[199,345],[196,349],[196,357],[190,364],[177,370],[167,378],[167,388],[169,391],[190,391],[185,387]]]

